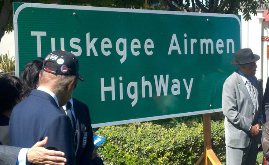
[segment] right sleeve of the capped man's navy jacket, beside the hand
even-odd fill
[[[66,165],[76,164],[75,141],[71,121],[67,115],[60,115],[46,128],[43,138],[49,138],[46,144],[47,149],[58,150],[65,153]]]

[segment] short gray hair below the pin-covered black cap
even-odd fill
[[[65,87],[68,83],[70,83],[73,79],[77,79],[75,75],[54,75],[52,73],[48,73],[45,71],[41,71],[41,79],[40,84],[43,83],[53,83],[53,93],[56,95],[62,91],[64,91]],[[77,80],[76,80],[77,81]]]

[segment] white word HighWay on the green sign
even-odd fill
[[[158,79],[159,77],[159,79]],[[122,81],[123,77],[119,77],[119,80]],[[187,92],[186,100],[190,99],[190,93],[191,93],[191,87],[193,84],[193,78],[190,80],[182,79],[184,82],[184,86]],[[105,86],[105,81],[110,81],[109,83],[111,84],[110,86]],[[157,97],[161,95],[161,91],[163,91],[164,96],[167,96],[168,93],[168,84],[169,82],[173,83],[171,86],[171,93],[173,95],[180,95],[180,81],[179,79],[173,79],[172,81],[169,81],[169,75],[164,76],[160,75],[154,75],[154,84],[156,88],[156,94]],[[189,85],[188,83],[189,82]],[[140,84],[139,84],[140,85]],[[146,88],[147,86],[147,88]],[[146,95],[148,97],[152,97],[152,83],[145,80],[145,76],[141,78],[141,87],[142,87],[142,98],[145,98]],[[146,94],[146,89],[148,89],[148,94]],[[120,100],[123,100],[123,83],[119,83],[119,95],[120,95]],[[115,78],[112,77],[111,80],[105,80],[104,78],[101,78],[101,101],[105,101],[105,95],[109,95],[111,93],[111,99],[116,100],[115,98]],[[138,101],[138,82],[130,82],[127,85],[127,95],[130,99],[133,99],[131,102],[132,107],[135,106],[135,104]]]

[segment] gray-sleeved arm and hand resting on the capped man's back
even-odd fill
[[[60,157],[64,156],[64,153],[61,151],[48,150],[43,148],[42,146],[46,145],[47,142],[48,138],[46,137],[44,140],[35,143],[35,145],[30,149],[22,149],[13,146],[2,146],[0,142],[0,165],[20,165],[19,159],[24,159],[24,162],[21,162],[22,164],[28,162],[38,165],[64,165],[66,159],[64,157]],[[26,155],[24,155],[24,151],[26,151]]]

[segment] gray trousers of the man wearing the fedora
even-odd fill
[[[255,165],[258,154],[258,143],[250,139],[247,148],[233,148],[226,146],[226,165]]]

